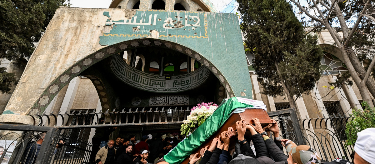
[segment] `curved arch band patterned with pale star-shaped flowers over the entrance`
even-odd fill
[[[226,92],[230,95],[230,97],[234,97],[233,88],[230,86],[228,81],[226,80],[225,76],[217,69],[214,64],[212,64],[209,60],[204,58],[198,52],[193,51],[192,49],[185,47],[183,45],[169,42],[166,40],[159,40],[153,38],[143,38],[143,39],[135,39],[135,40],[128,40],[121,43],[117,43],[111,46],[107,46],[102,48],[90,55],[87,55],[85,58],[81,59],[77,63],[71,65],[68,69],[66,69],[58,78],[54,79],[52,83],[50,83],[40,94],[39,98],[33,103],[31,110],[29,112],[30,115],[35,115],[42,113],[48,104],[52,101],[55,95],[71,81],[74,77],[80,75],[81,72],[86,70],[87,68],[93,66],[93,64],[98,63],[99,61],[112,56],[113,54],[117,54],[122,51],[126,51],[127,49],[132,48],[141,48],[146,46],[156,46],[160,48],[166,48],[181,52],[183,54],[188,55],[189,57],[195,58],[195,60],[199,61],[200,63],[204,64],[214,75],[219,79],[220,83],[224,86]]]

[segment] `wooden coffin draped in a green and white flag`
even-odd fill
[[[193,133],[173,148],[163,157],[163,161],[169,164],[187,164],[189,155],[200,151],[207,145],[210,145],[215,137],[219,137],[222,131],[228,130],[228,127],[236,128],[236,122],[245,119],[245,123],[254,122],[252,118],[258,118],[262,126],[271,123],[270,117],[266,112],[266,105],[262,101],[256,101],[241,97],[232,97],[223,100],[215,112],[208,117]],[[250,135],[245,134],[245,135]],[[229,148],[233,148],[237,138],[231,139]]]

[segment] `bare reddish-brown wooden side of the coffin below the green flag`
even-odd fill
[[[235,131],[237,131],[236,122],[245,119],[246,123],[254,124],[254,121],[252,121],[252,118],[258,118],[262,127],[267,126],[268,124],[272,123],[270,120],[270,117],[268,116],[267,112],[263,109],[246,109],[245,112],[242,113],[233,113],[228,120],[223,124],[223,126],[216,131],[215,134],[213,134],[206,142],[204,142],[198,149],[195,150],[192,154],[198,153],[202,148],[205,146],[211,145],[211,142],[214,138],[219,137],[220,134],[223,131],[228,130],[228,127],[233,127]],[[250,135],[248,131],[246,131],[245,136]],[[238,142],[237,137],[231,138],[231,143],[229,145],[229,149],[234,148],[234,144]],[[189,158],[186,158],[184,161],[182,161],[181,164],[188,164]]]

